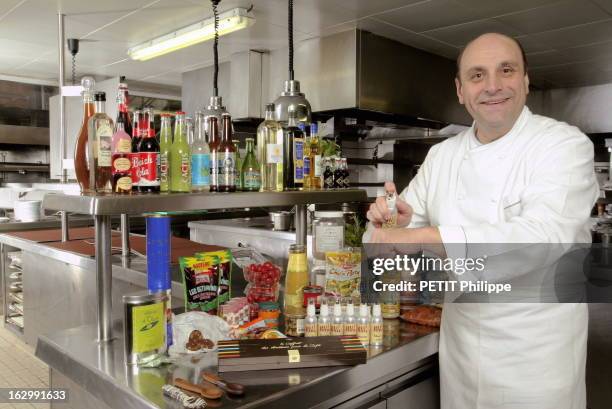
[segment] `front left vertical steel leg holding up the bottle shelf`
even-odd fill
[[[96,216],[96,296],[98,300],[98,341],[112,334],[111,217]]]

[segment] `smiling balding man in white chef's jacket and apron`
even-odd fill
[[[372,241],[440,244],[449,257],[469,257],[470,243],[590,242],[593,145],[525,106],[520,44],[484,34],[457,66],[459,102],[474,123],[430,149],[397,201],[401,227],[377,228]],[[368,211],[376,227],[389,217],[384,198]],[[584,409],[587,323],[585,304],[446,304],[442,408]]]

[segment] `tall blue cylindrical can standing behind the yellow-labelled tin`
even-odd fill
[[[146,220],[147,287],[151,292],[170,290],[170,216],[152,214]]]

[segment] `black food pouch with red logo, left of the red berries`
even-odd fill
[[[218,258],[180,257],[179,267],[185,288],[185,310],[217,313]]]

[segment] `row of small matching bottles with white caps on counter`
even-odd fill
[[[343,313],[340,300],[336,300],[330,316],[329,306],[323,302],[317,317],[314,300],[310,299],[306,307],[304,335],[306,337],[356,335],[363,345],[382,345],[383,318],[380,304],[372,305],[371,317],[369,306],[360,304],[359,314],[356,316],[352,301],[347,303],[346,312]]]

